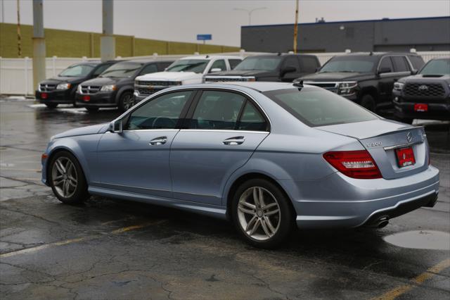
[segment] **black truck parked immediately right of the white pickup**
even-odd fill
[[[285,81],[316,72],[320,67],[314,55],[278,54],[249,56],[231,71],[205,75],[205,82],[226,81]]]

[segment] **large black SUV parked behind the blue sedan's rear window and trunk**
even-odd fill
[[[423,59],[413,53],[345,54],[330,58],[318,72],[294,82],[323,87],[375,111],[392,107],[394,82],[423,65]]]

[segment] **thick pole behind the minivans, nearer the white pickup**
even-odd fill
[[[101,61],[111,61],[115,58],[115,37],[113,37],[113,0],[102,1],[103,31],[100,38]]]

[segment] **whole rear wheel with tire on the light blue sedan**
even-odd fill
[[[236,190],[232,218],[240,236],[259,248],[274,249],[286,242],[293,230],[289,199],[269,180],[253,179]]]

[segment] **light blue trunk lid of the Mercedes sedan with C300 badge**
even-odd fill
[[[316,129],[358,139],[371,154],[385,179],[413,175],[428,168],[428,142],[423,127],[380,119]],[[416,163],[399,167],[396,149],[406,147],[413,149]]]

